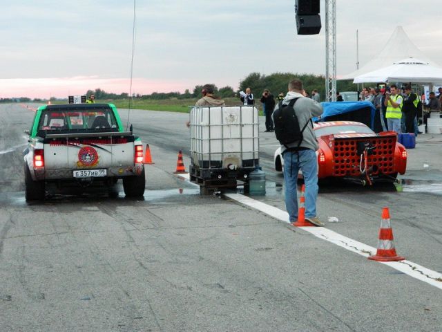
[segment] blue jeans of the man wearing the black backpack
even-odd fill
[[[289,212],[290,222],[298,220],[298,194],[296,192],[298,171],[302,170],[305,183],[305,217],[316,216],[316,198],[318,197],[318,163],[315,151],[287,151],[284,158],[285,207]]]

